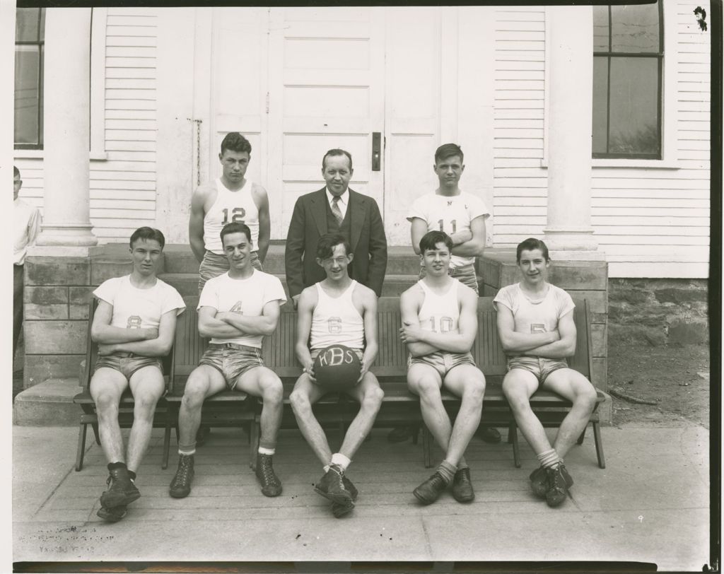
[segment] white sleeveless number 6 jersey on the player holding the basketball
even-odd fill
[[[324,349],[329,345],[347,345],[352,349],[364,347],[364,321],[354,303],[352,292],[357,282],[337,297],[329,297],[319,283],[317,304],[312,313],[309,343],[312,349]]]

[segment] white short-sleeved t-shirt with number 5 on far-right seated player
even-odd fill
[[[493,305],[505,305],[513,312],[516,333],[550,333],[558,328],[558,321],[576,306],[560,287],[548,284],[548,291],[540,300],[530,300],[521,291],[521,284],[503,287],[493,299]]]

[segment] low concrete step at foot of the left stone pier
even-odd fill
[[[78,379],[48,379],[15,397],[12,418],[20,426],[75,426],[80,407],[73,397],[81,391]]]

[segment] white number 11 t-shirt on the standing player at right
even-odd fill
[[[444,231],[447,235],[452,235],[458,231],[469,230],[470,222],[480,216],[485,219],[490,216],[485,203],[476,195],[461,191],[460,195],[421,195],[413,202],[407,219],[412,221],[418,217],[425,221],[428,231]],[[475,263],[474,257],[450,257],[452,268],[470,263]]]

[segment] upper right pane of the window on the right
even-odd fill
[[[611,7],[611,51],[658,52],[658,4]]]

